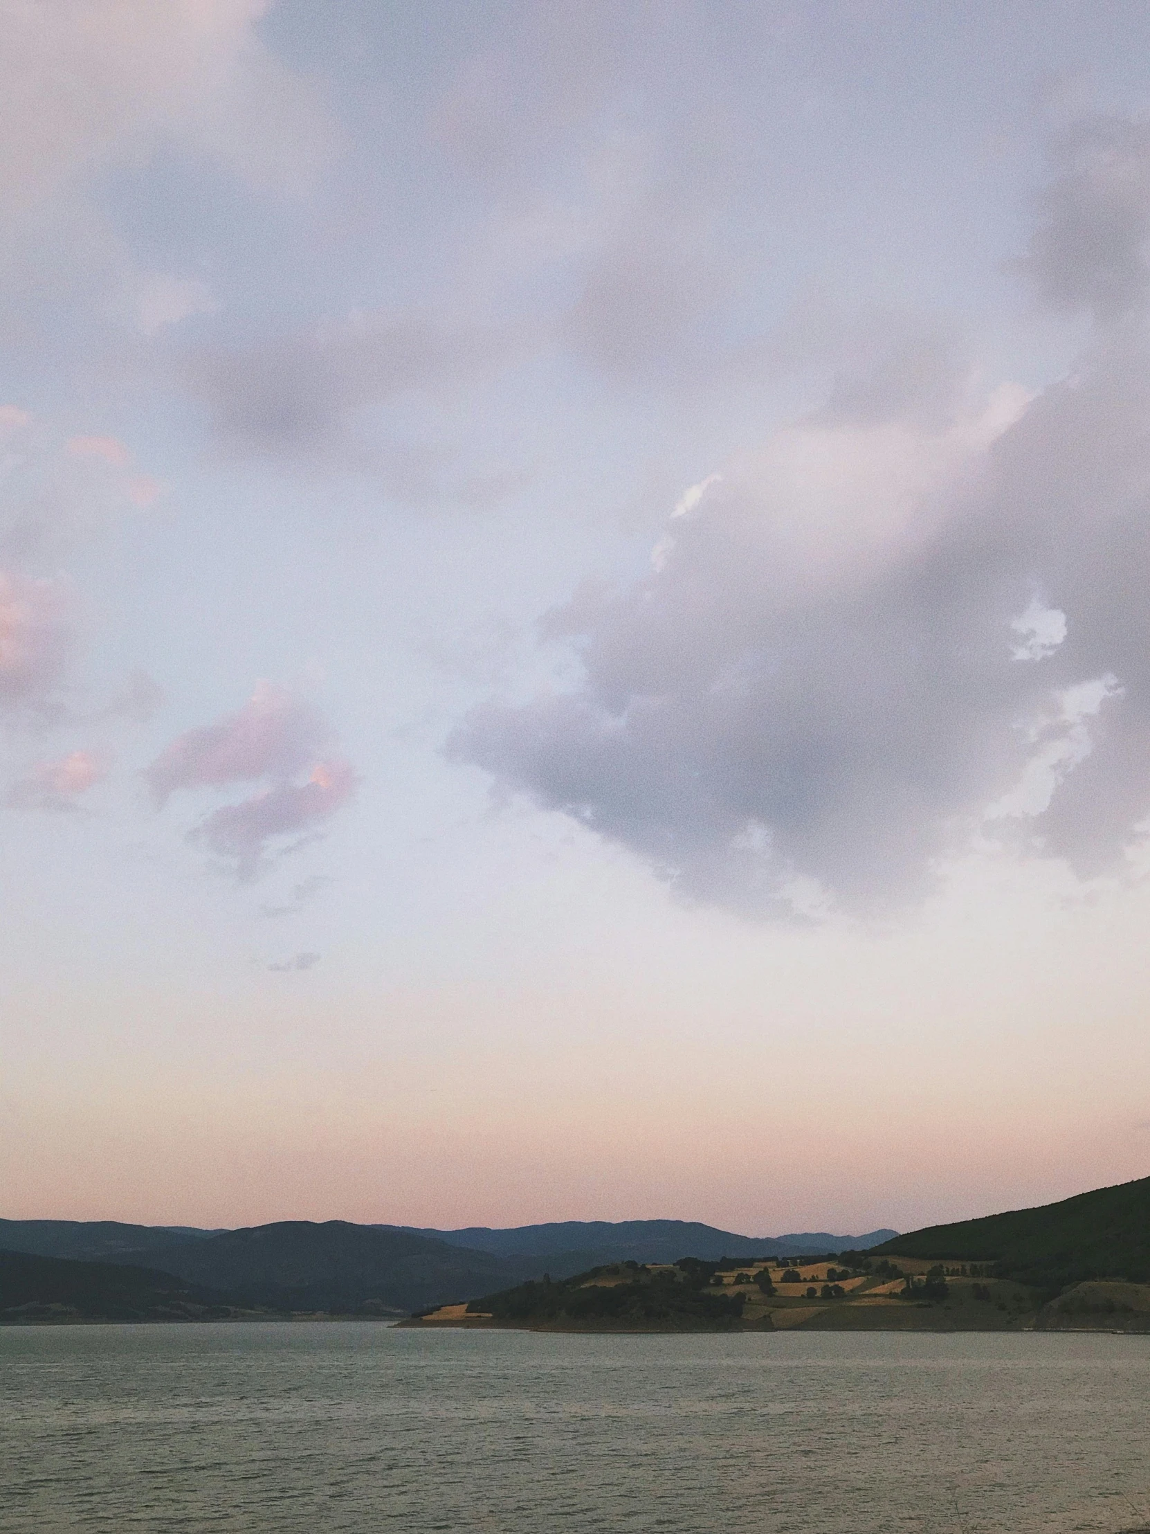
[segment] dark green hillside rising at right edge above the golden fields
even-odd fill
[[[871,1253],[991,1262],[1003,1276],[1046,1290],[1093,1278],[1142,1284],[1150,1279],[1150,1177],[1037,1209],[928,1226]]]

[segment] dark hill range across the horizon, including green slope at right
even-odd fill
[[[978,1264],[1040,1302],[1102,1279],[1150,1284],[1150,1178],[897,1235],[744,1236],[682,1220],[557,1221],[457,1230],[294,1220],[241,1230],[118,1221],[0,1220],[0,1321],[29,1305],[80,1318],[251,1310],[396,1315],[609,1262],[840,1252]],[[31,1262],[31,1258],[40,1259]],[[71,1296],[71,1298],[69,1298]],[[44,1316],[44,1319],[49,1319]]]

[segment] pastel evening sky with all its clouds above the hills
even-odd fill
[[[1150,9],[0,0],[11,1218],[1150,1174]]]

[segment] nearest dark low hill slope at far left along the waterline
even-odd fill
[[[204,1321],[227,1296],[123,1262],[75,1262],[0,1250],[0,1322]]]

